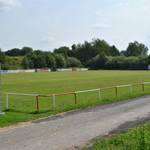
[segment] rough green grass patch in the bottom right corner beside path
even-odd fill
[[[150,150],[150,123],[95,141],[83,150]]]

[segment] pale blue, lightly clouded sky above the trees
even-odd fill
[[[0,0],[0,48],[60,46],[105,39],[150,48],[150,0]]]

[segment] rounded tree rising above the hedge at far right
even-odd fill
[[[126,50],[126,56],[146,56],[148,53],[148,48],[137,41],[129,43]]]

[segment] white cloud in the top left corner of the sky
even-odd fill
[[[19,5],[19,0],[0,0],[0,11],[9,10]]]

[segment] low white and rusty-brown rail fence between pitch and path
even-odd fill
[[[48,95],[25,94],[25,93],[6,93],[6,109],[9,109],[9,95],[35,97],[36,110],[39,112],[39,110],[40,110],[39,100],[42,97],[52,98],[53,109],[55,109],[56,108],[56,98],[60,97],[60,96],[74,95],[74,103],[77,104],[77,102],[78,102],[77,95],[80,93],[97,92],[98,99],[100,100],[100,99],[102,99],[101,92],[104,90],[114,89],[114,94],[117,97],[118,93],[119,93],[119,91],[118,91],[119,88],[129,87],[129,92],[132,93],[133,86],[141,86],[141,90],[142,90],[142,92],[144,92],[145,91],[145,85],[149,85],[149,84],[150,84],[150,82],[143,82],[143,83],[138,83],[138,84],[126,84],[126,85],[118,85],[118,86],[112,86],[112,87],[106,87],[106,88],[98,88],[98,89],[90,89],[90,90],[82,90],[82,91],[75,91],[75,92],[58,93],[58,94],[48,94]]]

